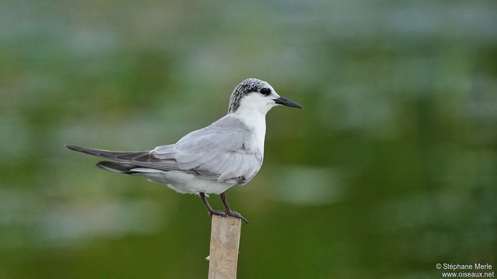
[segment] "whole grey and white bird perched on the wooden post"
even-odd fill
[[[277,105],[302,108],[278,95],[269,83],[248,78],[233,90],[227,115],[174,144],[141,152],[66,147],[113,160],[98,162],[98,168],[166,183],[179,193],[198,194],[211,216],[229,215],[248,223],[240,213],[230,209],[225,193],[234,185],[247,184],[262,166],[265,117]],[[212,209],[206,194],[221,194],[226,210]]]

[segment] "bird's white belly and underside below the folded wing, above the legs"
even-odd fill
[[[139,171],[133,174],[135,176],[142,176],[154,182],[166,183],[169,188],[182,194],[206,193],[219,195],[235,185],[235,183],[218,182],[181,171],[161,171],[148,168],[136,168],[133,171]]]

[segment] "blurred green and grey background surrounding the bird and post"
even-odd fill
[[[496,266],[496,27],[495,0],[1,1],[0,278],[207,278],[198,197],[63,144],[173,143],[248,77],[305,109],[228,191],[238,278]]]

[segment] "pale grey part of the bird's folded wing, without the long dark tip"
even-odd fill
[[[225,117],[175,144],[156,147],[150,155],[173,159],[179,169],[204,178],[244,185],[262,165],[262,153],[246,148],[249,140],[252,135],[243,123]]]

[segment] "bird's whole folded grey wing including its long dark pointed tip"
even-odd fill
[[[248,149],[253,141],[248,127],[227,115],[191,132],[175,144],[151,151],[117,152],[67,145],[86,154],[158,170],[179,170],[206,179],[246,184],[262,165],[262,151]]]

